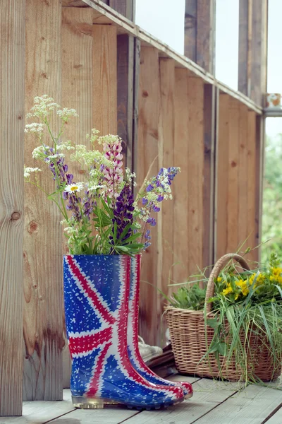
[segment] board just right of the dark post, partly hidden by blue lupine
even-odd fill
[[[140,57],[140,97],[137,145],[137,190],[149,167],[159,154],[159,55],[157,49],[143,47]],[[154,161],[149,177],[157,175],[158,160]],[[157,228],[152,230],[152,245],[142,255],[140,287],[140,333],[146,343],[154,344],[159,337],[157,317]],[[154,285],[154,287],[152,287]]]

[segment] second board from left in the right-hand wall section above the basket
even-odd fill
[[[229,99],[227,252],[238,249],[239,105],[238,100]]]

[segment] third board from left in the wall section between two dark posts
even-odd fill
[[[189,218],[188,196],[190,181],[188,173],[190,143],[190,108],[188,71],[176,69],[174,89],[174,154],[173,164],[181,168],[173,187],[173,281],[182,283],[188,278]]]

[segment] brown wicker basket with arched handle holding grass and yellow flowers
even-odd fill
[[[245,259],[238,254],[224,255],[216,262],[209,277],[206,302],[214,295],[214,279],[219,276],[223,266],[231,259],[238,261],[243,269],[250,270]],[[209,318],[212,318],[212,303],[207,302],[206,308]],[[202,359],[214,335],[214,329],[209,326],[206,328],[205,326],[203,311],[167,307],[166,317],[178,372],[181,374],[199,375],[200,377],[221,377],[230,381],[244,380],[242,370],[238,366],[236,367],[235,357],[231,357],[227,366],[224,364],[224,358],[221,357],[221,371],[219,371],[214,354],[210,354],[209,358]],[[242,341],[244,336],[245,334],[241,335]],[[247,355],[248,377],[251,375],[253,379],[261,379],[264,382],[276,379],[280,375],[281,367],[278,366],[274,370],[269,348],[265,346],[265,341],[262,341],[255,334],[250,334],[249,346]]]

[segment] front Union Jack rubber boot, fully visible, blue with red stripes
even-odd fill
[[[66,255],[63,277],[73,405],[152,409],[183,401],[180,387],[148,382],[128,358],[130,257]]]

